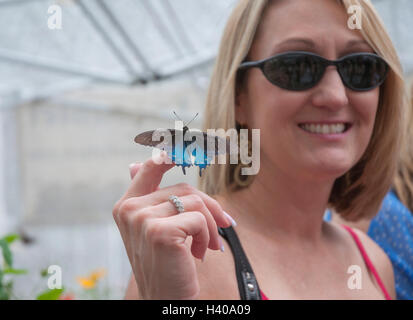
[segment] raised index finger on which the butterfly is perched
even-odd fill
[[[175,164],[171,163],[167,153],[164,151],[146,160],[138,173],[133,177],[131,185],[121,200],[140,197],[154,192],[161,183],[165,172],[174,166]]]

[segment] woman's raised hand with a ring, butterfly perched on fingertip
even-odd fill
[[[194,257],[222,243],[217,230],[229,227],[219,203],[188,184],[159,188],[163,174],[173,164],[149,159],[131,168],[132,183],[116,202],[113,217],[118,225],[143,299],[195,299],[199,282]],[[164,161],[165,162],[165,161]],[[178,196],[185,212],[178,214],[169,202]],[[192,243],[185,240],[192,236]]]

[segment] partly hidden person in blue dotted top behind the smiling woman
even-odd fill
[[[407,81],[410,89],[408,122],[413,121],[413,76]],[[383,200],[379,213],[372,220],[349,223],[339,215],[327,212],[326,220],[345,223],[366,232],[389,256],[394,268],[397,299],[413,299],[413,127],[402,146],[399,169],[392,190]]]

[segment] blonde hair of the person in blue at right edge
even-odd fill
[[[406,119],[413,122],[413,74],[407,81],[409,90],[409,108]],[[405,140],[402,144],[399,159],[399,169],[394,178],[394,189],[400,201],[413,212],[413,126],[407,127]]]

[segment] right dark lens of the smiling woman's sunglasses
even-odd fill
[[[371,90],[383,83],[387,74],[386,62],[371,55],[356,55],[344,59],[339,70],[343,82],[353,90]]]

